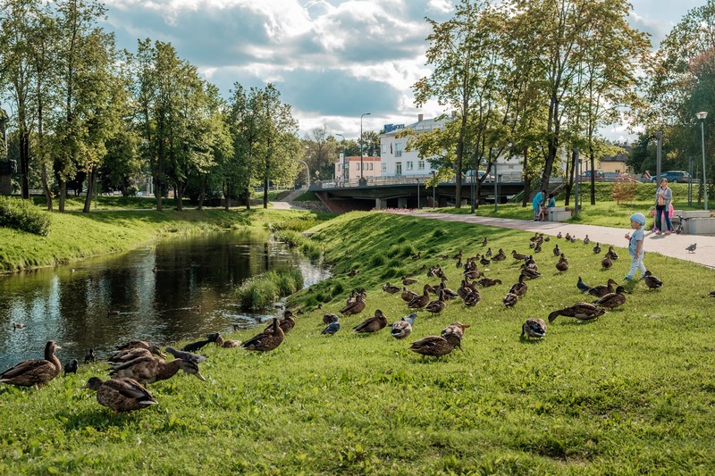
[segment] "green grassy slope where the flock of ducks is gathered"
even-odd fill
[[[105,374],[102,364],[46,388],[2,387],[0,472],[715,472],[711,270],[649,254],[664,288],[635,283],[622,309],[594,322],[559,317],[543,341],[526,342],[518,338],[526,317],[585,300],[579,275],[594,285],[627,269],[625,250],[612,271],[601,271],[593,245],[552,239],[536,256],[543,277],[528,281],[515,308],[501,305],[517,280],[509,259],[487,267],[503,284],[484,288],[474,308],[450,301],[441,316],[420,312],[412,336],[398,341],[388,330],[351,331],[377,308],[389,322],[408,313],[383,282],[414,275],[410,288],[434,284],[425,271],[439,263],[458,288],[454,260],[437,255],[483,253],[484,237],[494,251],[526,252],[530,234],[383,213],[349,213],[311,231],[336,274],[291,298],[308,312],[281,347],[266,355],[205,347],[207,382],[180,374],[156,383],[159,405],[117,417],[80,388]],[[571,263],[563,274],[551,253],[557,242]],[[357,287],[367,289],[366,312],[322,336],[323,313],[337,313]],[[318,301],[323,309],[310,311]],[[408,351],[457,320],[472,324],[464,353],[433,360]]]

